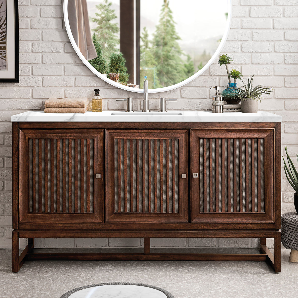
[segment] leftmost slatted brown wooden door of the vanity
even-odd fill
[[[19,132],[19,222],[103,222],[104,131]]]

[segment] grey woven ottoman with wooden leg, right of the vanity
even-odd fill
[[[289,262],[298,261],[298,214],[288,212],[281,217],[281,242],[286,249],[291,249]]]

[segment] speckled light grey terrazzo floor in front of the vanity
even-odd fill
[[[134,282],[164,288],[175,298],[298,297],[298,263],[282,250],[282,272],[265,262],[27,261],[11,272],[11,250],[0,250],[1,298],[60,298],[83,285]],[[154,298],[154,297],[153,297]]]

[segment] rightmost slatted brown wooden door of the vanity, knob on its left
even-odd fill
[[[190,139],[191,222],[274,221],[274,129],[193,129]]]

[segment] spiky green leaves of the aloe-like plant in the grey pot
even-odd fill
[[[246,85],[246,83],[244,83],[244,81],[242,80],[241,77],[239,77],[239,78],[242,81],[242,83],[244,84],[245,90],[235,87],[235,88],[233,88],[234,92],[227,94],[227,95],[232,94],[236,97],[239,97],[241,100],[247,100],[248,98],[252,98],[252,99],[260,100],[260,102],[261,102],[262,95],[269,94],[269,92],[271,92],[271,90],[272,90],[271,87],[261,88],[261,86],[264,86],[264,85],[258,85],[256,87],[253,87],[252,80],[254,79],[254,75],[251,77],[250,80],[249,80],[249,76],[248,76],[247,85]]]

